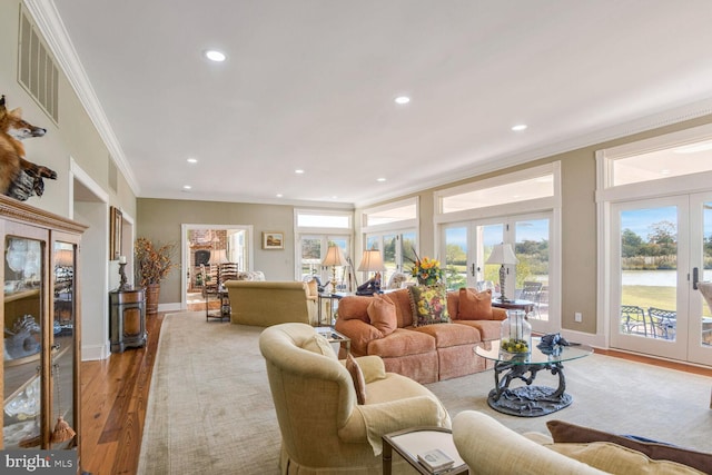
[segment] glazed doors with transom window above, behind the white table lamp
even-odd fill
[[[449,289],[494,288],[533,301],[532,326],[552,333],[561,321],[561,164],[555,161],[435,194],[437,258]],[[518,264],[487,264],[495,245],[510,244]],[[534,291],[532,291],[534,289]]]

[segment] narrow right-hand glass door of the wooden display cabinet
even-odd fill
[[[73,446],[73,427],[78,427],[75,414],[75,346],[76,319],[76,249],[73,244],[55,243],[53,259],[53,321],[51,338],[51,399],[52,434],[50,443],[56,448]]]

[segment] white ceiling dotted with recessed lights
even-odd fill
[[[28,4],[140,197],[363,205],[712,112],[709,0]]]

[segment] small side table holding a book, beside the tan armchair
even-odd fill
[[[418,462],[418,454],[433,448],[439,448],[455,461],[451,468],[437,472],[438,474],[469,473],[469,467],[457,453],[452,431],[444,427],[413,427],[383,436],[383,475],[390,475],[394,449],[418,473],[432,475],[432,472]]]

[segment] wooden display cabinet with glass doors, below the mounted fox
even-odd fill
[[[78,269],[85,229],[0,196],[2,449],[75,449],[79,458]],[[69,431],[60,431],[60,417]]]

